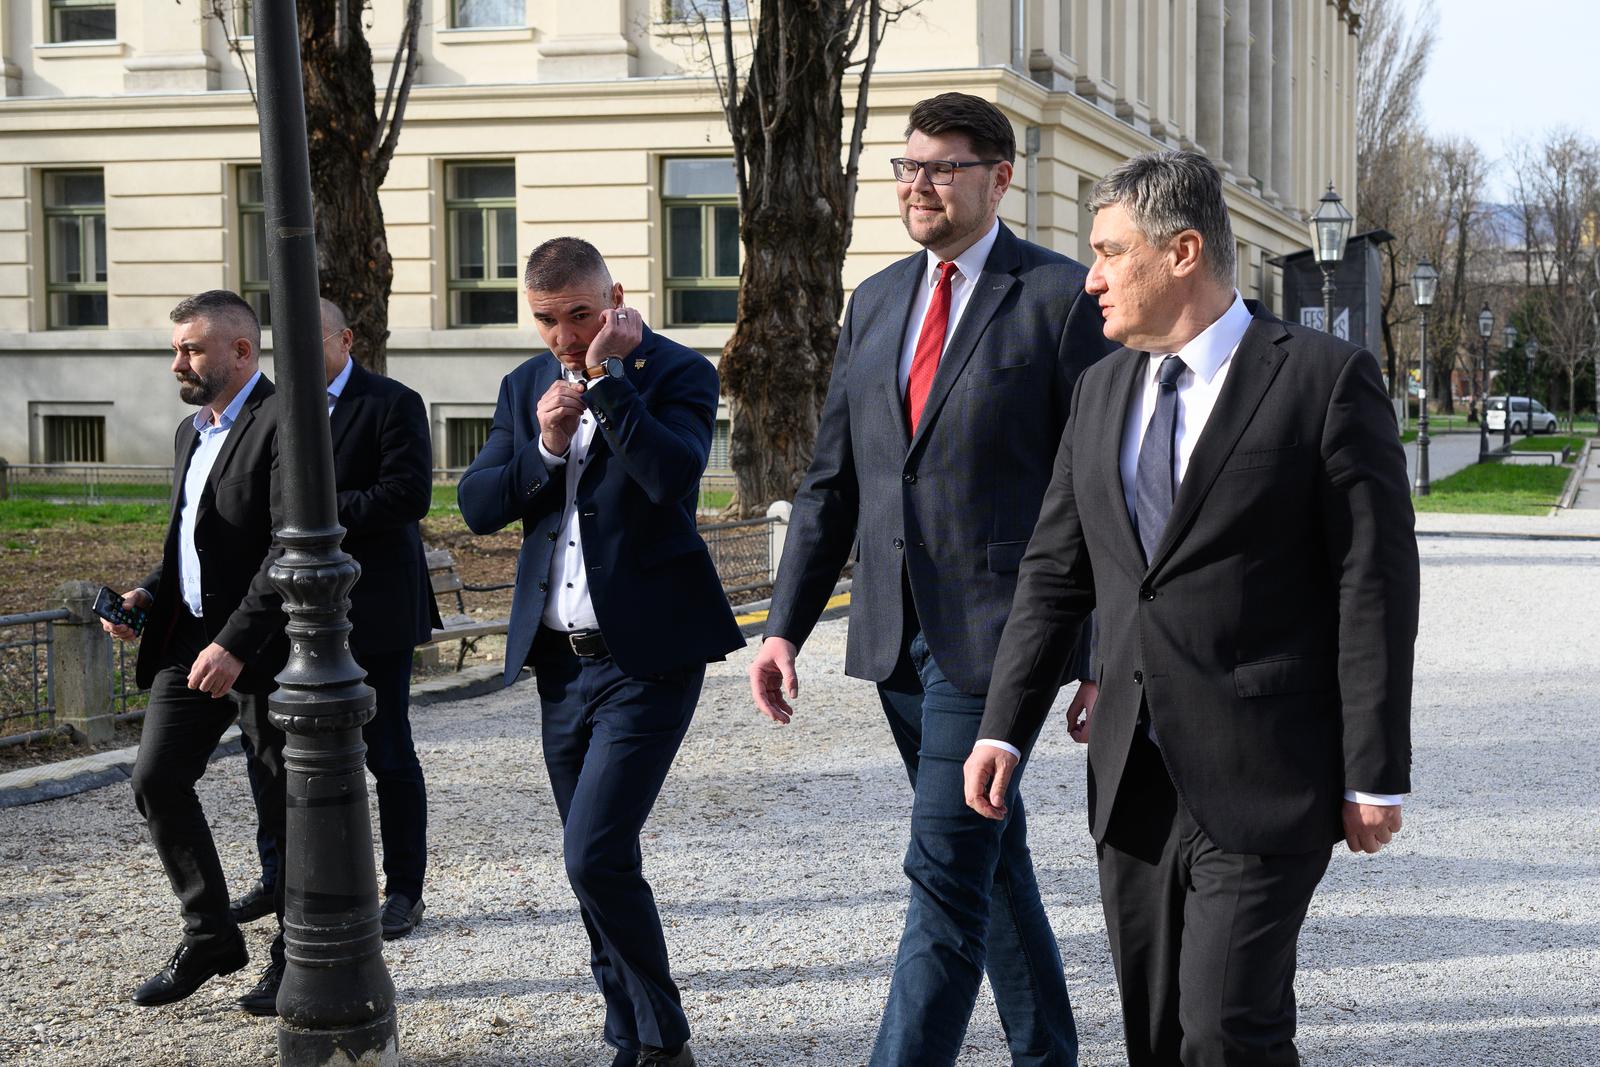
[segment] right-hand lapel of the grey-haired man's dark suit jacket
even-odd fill
[[[1222,464],[1234,454],[1240,435],[1256,416],[1256,408],[1261,406],[1278,368],[1283,366],[1283,349],[1277,346],[1283,336],[1283,323],[1258,317],[1238,342],[1216,408],[1200,432],[1200,440],[1189,458],[1189,469],[1184,470],[1184,482],[1178,486],[1171,515],[1162,530],[1160,544],[1155,545],[1155,558],[1150,560],[1150,571],[1173,553],[1173,547],[1194,522],[1216,477],[1222,474]]]

